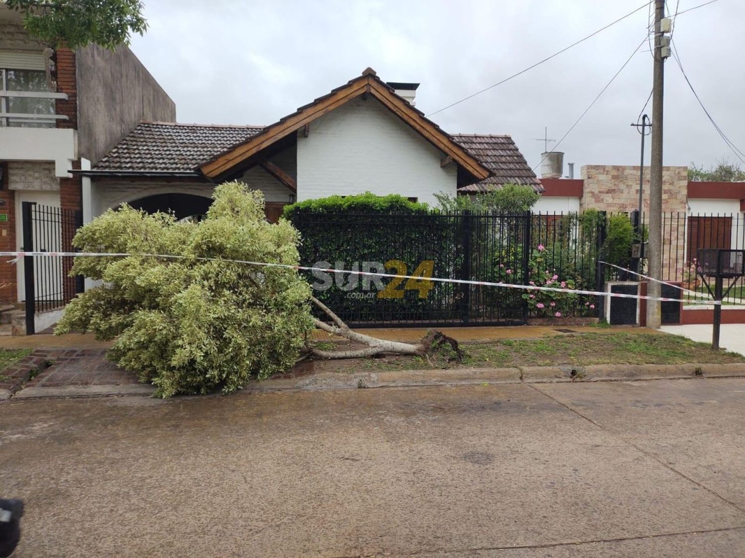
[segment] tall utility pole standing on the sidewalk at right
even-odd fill
[[[670,19],[665,18],[665,0],[655,0],[654,10],[654,73],[652,81],[652,153],[650,162],[649,244],[647,273],[662,279],[662,99],[665,88],[665,58],[670,56]],[[660,297],[661,285],[647,282],[647,295]],[[647,300],[647,327],[660,326],[659,300]]]

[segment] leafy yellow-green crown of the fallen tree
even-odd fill
[[[159,396],[230,393],[294,364],[312,327],[311,292],[295,270],[219,260],[296,265],[298,242],[288,221],[264,220],[261,192],[237,182],[215,188],[200,223],[126,205],[109,210],[73,244],[132,255],[76,259],[72,273],[103,284],[73,299],[56,332],[114,339],[112,361],[151,381]]]

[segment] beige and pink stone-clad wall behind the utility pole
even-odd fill
[[[630,212],[639,199],[639,167],[622,165],[585,165],[585,181],[580,209],[595,208],[607,212]],[[650,168],[644,167],[644,212],[649,211]],[[688,167],[662,167],[662,211],[687,211]]]

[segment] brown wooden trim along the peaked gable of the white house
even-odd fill
[[[454,162],[461,165],[477,180],[484,180],[491,175],[490,171],[478,159],[450,139],[443,130],[427,121],[422,115],[419,115],[419,112],[413,110],[406,101],[390,92],[387,86],[374,77],[374,73],[361,75],[348,85],[332,92],[326,98],[309,104],[285,120],[273,124],[254,138],[248,139],[244,144],[238,145],[238,147],[218,156],[217,159],[201,165],[200,170],[210,179],[219,177],[277,140],[294,133],[316,118],[335,110],[359,95],[373,95],[388,110],[405,121],[437,149],[443,151],[446,156],[450,156]]]

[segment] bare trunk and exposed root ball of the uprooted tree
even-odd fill
[[[315,326],[329,332],[332,335],[340,335],[350,341],[367,345],[363,349],[349,349],[343,351],[326,351],[318,349],[305,343],[308,353],[317,358],[364,358],[383,353],[392,353],[396,355],[416,355],[425,358],[434,357],[446,362],[460,362],[463,359],[463,351],[458,347],[457,340],[448,337],[442,332],[428,332],[419,343],[402,343],[400,341],[388,341],[353,332],[349,326],[341,320],[328,306],[323,304],[319,299],[311,297],[311,300],[324,314],[331,318],[334,325],[330,325],[321,320],[315,320]]]

